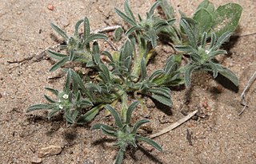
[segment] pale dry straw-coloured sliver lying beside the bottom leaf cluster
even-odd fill
[[[162,131],[159,131],[158,133],[154,135],[150,135],[150,139],[154,139],[155,137],[158,137],[159,135],[166,134],[167,132],[173,130],[174,128],[180,126],[182,123],[185,123],[187,120],[189,120],[191,117],[193,117],[198,110],[191,112],[189,115],[186,115],[186,117],[179,119],[176,123],[171,124],[169,127],[166,127],[162,129]]]

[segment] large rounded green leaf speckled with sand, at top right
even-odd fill
[[[227,31],[234,32],[238,26],[238,21],[242,14],[242,6],[236,3],[228,3],[219,6],[214,12],[213,31],[217,37],[220,37]]]

